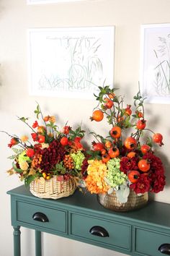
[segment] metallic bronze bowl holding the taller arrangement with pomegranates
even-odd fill
[[[130,189],[128,201],[125,203],[120,202],[117,199],[116,192],[112,194],[99,194],[97,195],[98,202],[109,210],[115,210],[117,212],[125,212],[142,208],[148,202],[148,192],[137,195],[133,190]]]

